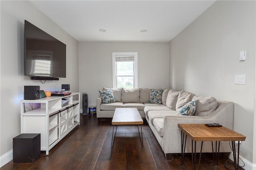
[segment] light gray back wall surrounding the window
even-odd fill
[[[96,106],[98,90],[112,87],[112,52],[138,52],[138,87],[168,87],[168,43],[79,42],[78,49],[79,91],[89,106]]]

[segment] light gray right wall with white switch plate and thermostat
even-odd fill
[[[240,155],[252,162],[255,92],[255,1],[216,1],[170,41],[170,86],[232,101]],[[246,51],[246,61],[239,61]],[[246,74],[246,85],[235,75]]]

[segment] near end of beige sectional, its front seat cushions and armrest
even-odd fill
[[[178,124],[182,123],[220,123],[222,126],[233,129],[234,103],[219,101],[218,108],[208,116],[176,115],[173,111],[149,111],[148,125],[162,147],[166,158],[172,154],[181,153],[181,131]],[[151,120],[150,120],[151,119]],[[200,142],[197,143],[197,152],[200,152]],[[185,153],[191,153],[191,140],[188,138]],[[202,152],[212,152],[212,143],[204,142]],[[220,152],[231,152],[229,142],[220,142]]]

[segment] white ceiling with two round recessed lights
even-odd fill
[[[215,0],[30,2],[80,42],[169,42]]]

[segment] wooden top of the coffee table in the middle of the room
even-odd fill
[[[143,125],[137,108],[116,108],[112,125]]]

